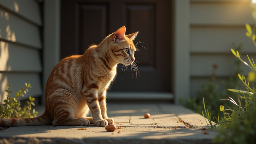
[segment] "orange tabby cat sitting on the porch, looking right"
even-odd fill
[[[44,114],[30,119],[0,119],[0,126],[114,124],[107,116],[106,90],[116,76],[117,64],[133,63],[137,34],[125,35],[123,26],[83,55],[60,61],[46,84]],[[92,117],[86,117],[88,110]]]

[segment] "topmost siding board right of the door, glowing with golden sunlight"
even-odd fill
[[[191,3],[191,25],[254,24],[249,3]]]

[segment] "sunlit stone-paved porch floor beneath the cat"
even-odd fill
[[[36,108],[35,108],[36,109]],[[37,109],[36,109],[37,110]],[[43,111],[43,110],[41,110]],[[144,113],[151,117],[145,119]],[[42,114],[42,113],[41,113]],[[117,129],[107,132],[105,127],[90,126],[25,126],[10,127],[0,132],[2,143],[211,143],[218,133],[196,126],[207,126],[204,118],[193,111],[173,104],[108,103],[108,115],[115,119]],[[177,123],[177,121],[183,123]],[[202,122],[202,120],[204,120]],[[201,124],[204,123],[204,124]],[[189,128],[187,125],[195,125]],[[165,128],[166,127],[166,128]],[[79,128],[87,128],[79,130]]]

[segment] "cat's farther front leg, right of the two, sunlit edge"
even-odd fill
[[[113,118],[108,118],[107,116],[107,107],[106,107],[106,89],[99,95],[99,103],[100,103],[100,110],[102,118],[108,121],[108,124],[114,124]]]

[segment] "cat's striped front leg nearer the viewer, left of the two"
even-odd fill
[[[107,126],[108,121],[102,118],[100,105],[97,97],[97,91],[96,90],[85,90],[84,96],[87,102],[87,105],[91,111],[93,123],[95,126]]]

